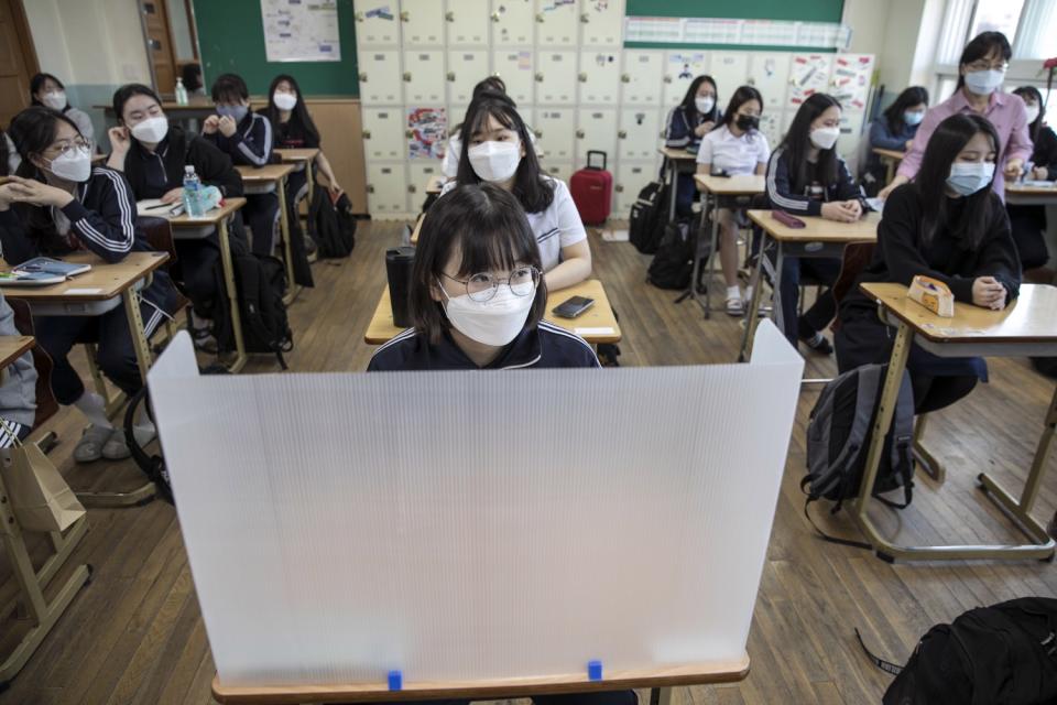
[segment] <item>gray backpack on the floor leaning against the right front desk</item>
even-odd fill
[[[808,521],[811,518],[807,508],[813,501],[827,499],[837,502],[831,511],[836,513],[843,500],[859,495],[886,370],[886,365],[863,365],[844,372],[826,384],[815,403],[807,426],[807,475],[800,480],[800,489],[807,494],[804,514]],[[913,444],[914,391],[911,377],[904,371],[892,429],[884,440],[884,453],[872,490],[874,497],[895,509],[904,509],[911,503]],[[900,487],[905,499],[902,505],[880,496]],[[861,542],[828,536],[818,527],[815,530],[827,541],[870,547]]]

